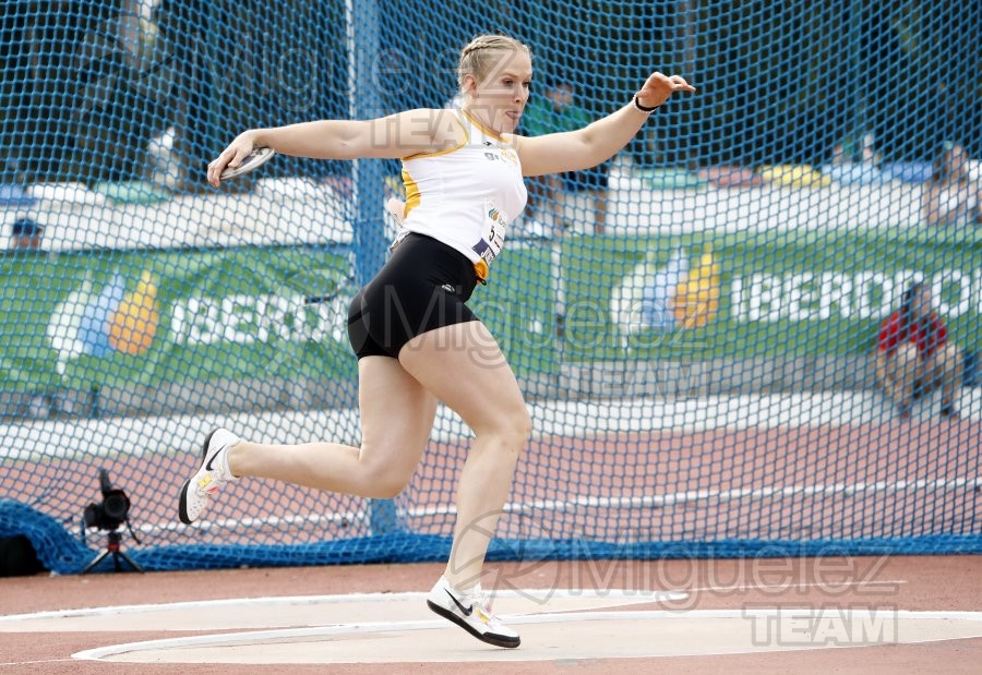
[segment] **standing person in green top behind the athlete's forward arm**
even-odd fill
[[[541,136],[550,133],[575,131],[588,125],[592,118],[589,112],[574,103],[573,85],[560,80],[548,84],[542,97],[535,98],[522,116],[522,126],[526,135]],[[568,228],[563,219],[561,192],[586,191],[594,200],[594,232],[602,234],[607,221],[608,173],[610,160],[585,171],[568,171],[562,176],[535,177],[529,180],[529,217],[538,215],[543,219],[548,205],[554,221]]]

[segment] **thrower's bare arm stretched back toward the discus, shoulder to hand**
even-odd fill
[[[237,167],[256,147],[315,159],[379,157],[398,159],[457,143],[459,124],[447,110],[420,108],[374,120],[320,120],[239,134],[208,165],[208,182],[217,186],[221,171]]]

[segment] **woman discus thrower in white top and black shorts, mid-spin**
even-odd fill
[[[498,341],[466,303],[525,208],[524,177],[610,159],[672,94],[695,91],[678,75],[656,72],[637,92],[625,93],[616,110],[583,129],[522,136],[515,132],[531,77],[526,45],[482,35],[457,62],[459,109],[254,129],[208,165],[208,182],[217,188],[223,170],[240,166],[258,147],[319,159],[400,159],[407,194],[405,203],[388,205],[402,219],[397,245],[348,314],[358,357],[360,445],[284,446],[216,430],[205,438],[199,469],[179,499],[181,521],[192,523],[220,487],[243,477],[392,498],[416,472],[442,401],[467,423],[474,441],[456,490],[450,559],[427,604],[499,647],[518,647],[518,634],[492,613],[481,574],[532,421]],[[279,515],[276,504],[268,508]]]

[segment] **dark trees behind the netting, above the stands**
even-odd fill
[[[358,3],[356,3],[358,4]],[[28,181],[146,172],[173,125],[185,185],[244,126],[349,110],[342,0],[8,0],[0,5],[0,153]],[[505,32],[535,51],[536,82],[561,77],[602,114],[654,69],[699,86],[631,146],[642,164],[821,162],[875,134],[887,160],[927,159],[941,140],[982,154],[982,5],[943,0],[495,0],[379,5],[373,82],[384,110],[442,106],[456,50]],[[137,29],[127,29],[127,26]],[[534,86],[534,95],[536,87]],[[277,162],[285,173],[345,172]]]

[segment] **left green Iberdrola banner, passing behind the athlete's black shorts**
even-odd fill
[[[519,374],[555,367],[548,250],[495,265],[474,308]],[[344,248],[8,255],[0,388],[155,386],[246,378],[354,379]],[[538,338],[534,338],[538,336]]]

